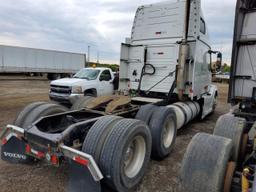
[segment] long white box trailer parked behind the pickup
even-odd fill
[[[85,54],[0,45],[0,73],[47,74],[49,80],[86,67]]]

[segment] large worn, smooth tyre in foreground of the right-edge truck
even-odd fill
[[[187,147],[181,165],[182,191],[222,192],[231,150],[231,139],[196,134]]]

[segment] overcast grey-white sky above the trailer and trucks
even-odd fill
[[[136,8],[159,0],[1,0],[0,44],[86,53],[119,63]],[[230,63],[235,0],[202,0],[213,49]]]

